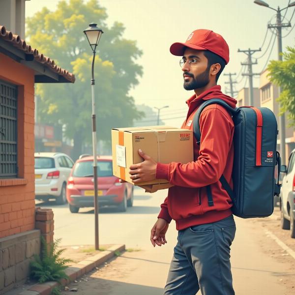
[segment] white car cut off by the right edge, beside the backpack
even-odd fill
[[[290,229],[291,237],[295,238],[295,149],[288,167],[282,165],[281,171],[285,173],[280,194],[281,228]]]

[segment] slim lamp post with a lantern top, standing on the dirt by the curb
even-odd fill
[[[98,243],[98,199],[97,199],[97,151],[96,151],[96,118],[95,118],[95,97],[94,97],[94,60],[95,50],[99,39],[103,33],[102,29],[98,29],[96,24],[89,24],[89,27],[83,31],[87,37],[89,45],[92,49],[93,59],[91,68],[91,96],[92,96],[92,146],[93,146],[93,183],[94,183],[94,215],[95,215],[95,250],[99,249]]]

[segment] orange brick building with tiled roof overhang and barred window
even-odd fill
[[[74,81],[73,74],[0,26],[1,294],[26,280],[29,261],[40,252],[36,228],[42,218],[35,223],[34,84]],[[50,230],[46,238],[53,240]]]

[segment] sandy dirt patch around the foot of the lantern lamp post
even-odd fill
[[[66,259],[71,259],[72,264],[79,263],[80,261],[87,260],[88,257],[94,256],[99,253],[103,253],[108,250],[112,245],[100,245],[99,250],[95,250],[94,245],[71,245],[71,246],[60,246],[58,249],[65,249],[61,257]]]

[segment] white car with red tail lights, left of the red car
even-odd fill
[[[35,198],[57,204],[66,200],[66,183],[74,165],[73,160],[60,152],[35,152]]]

